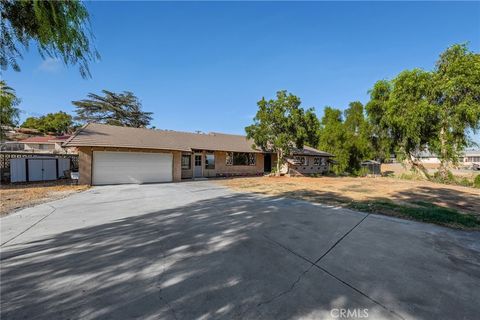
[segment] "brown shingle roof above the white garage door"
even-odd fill
[[[110,126],[90,123],[64,143],[64,147],[119,147],[178,151],[219,150],[261,152],[245,136],[223,133],[190,133]]]

